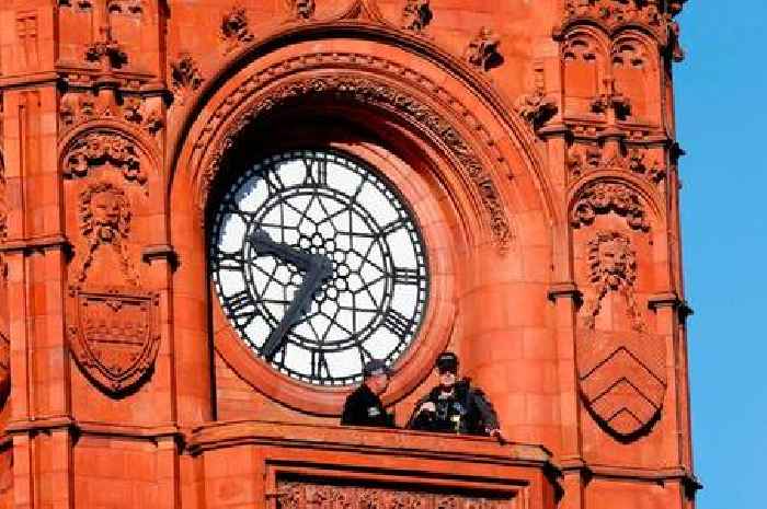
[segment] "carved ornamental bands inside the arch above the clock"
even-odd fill
[[[356,62],[365,62],[367,66],[378,69],[394,72],[399,79],[402,76],[413,76],[421,88],[431,90],[433,95],[448,94],[448,92],[435,83],[431,82],[425,77],[421,77],[411,69],[405,69],[398,63],[388,61],[380,57],[371,57],[369,55],[357,54],[316,54],[305,56],[291,60],[289,65],[279,62],[275,66],[265,69],[264,71],[252,77],[240,90],[236,90],[230,101],[224,102],[211,115],[209,125],[203,129],[203,137],[196,141],[197,147],[206,147],[210,140],[209,134],[219,129],[219,124],[224,119],[229,119],[238,107],[239,102],[243,101],[247,95],[256,93],[256,90],[263,89],[267,81],[273,81],[279,78],[281,74],[290,72],[295,73],[301,67],[312,68],[320,67],[327,61],[334,66]],[[239,117],[227,127],[227,136],[217,142],[213,148],[210,155],[207,158],[201,181],[199,181],[199,204],[205,204],[213,180],[218,172],[225,153],[233,146],[234,139],[244,127],[253,122],[257,116],[264,115],[276,107],[293,104],[308,99],[331,99],[333,101],[351,102],[364,104],[366,106],[375,106],[398,115],[403,115],[409,122],[421,126],[421,128],[438,139],[446,147],[456,160],[460,167],[466,172],[474,185],[476,193],[488,213],[490,230],[493,239],[500,248],[504,248],[511,241],[512,229],[506,217],[505,208],[501,194],[497,190],[492,177],[483,167],[479,155],[471,149],[470,143],[453,127],[446,119],[440,117],[427,104],[409,95],[402,90],[394,89],[392,84],[378,80],[371,77],[357,77],[355,73],[334,72],[332,76],[301,78],[294,80],[285,85],[278,86],[268,91],[254,106],[251,106],[247,112],[239,113]],[[460,107],[460,102],[457,100],[447,101],[455,107]],[[462,119],[468,125],[476,126],[474,130],[480,134],[486,134],[488,130],[482,127],[481,123],[468,109],[462,108]],[[497,150],[494,142],[489,137],[486,143],[492,150]],[[499,158],[502,161],[502,158]]]

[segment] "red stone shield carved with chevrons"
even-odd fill
[[[645,428],[661,410],[666,392],[663,338],[591,328],[579,336],[577,372],[586,406],[618,436]]]

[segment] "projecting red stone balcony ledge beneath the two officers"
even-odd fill
[[[482,437],[251,420],[187,447],[206,508],[550,509],[561,490],[543,447]]]

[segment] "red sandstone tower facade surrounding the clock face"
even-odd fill
[[[3,0],[0,507],[694,507],[684,3]],[[398,423],[450,348],[512,443],[337,427],[228,325],[209,201],[306,144],[421,224]]]

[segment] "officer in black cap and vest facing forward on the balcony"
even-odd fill
[[[415,404],[409,429],[466,435],[501,436],[493,405],[468,379],[458,380],[458,357],[446,351],[435,366],[439,385]]]

